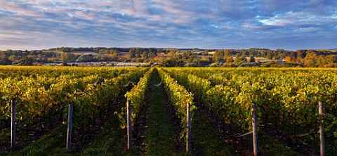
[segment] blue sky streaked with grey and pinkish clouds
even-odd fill
[[[337,48],[336,0],[0,0],[0,49]]]

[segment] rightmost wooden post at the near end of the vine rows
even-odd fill
[[[321,153],[320,155],[321,156],[324,156],[325,155],[325,138],[324,138],[324,103],[319,100],[318,101],[318,105],[319,105],[319,109],[318,109],[318,112],[319,112],[319,120],[321,122],[321,125],[319,126],[319,140],[320,140],[320,150],[321,150]]]

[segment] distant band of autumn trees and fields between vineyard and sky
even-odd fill
[[[77,52],[89,52],[81,56]],[[0,65],[119,61],[180,66],[337,67],[337,49],[71,48],[0,51]]]

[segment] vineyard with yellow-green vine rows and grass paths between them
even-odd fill
[[[322,155],[320,145],[337,153],[334,69],[0,71],[0,155]]]

